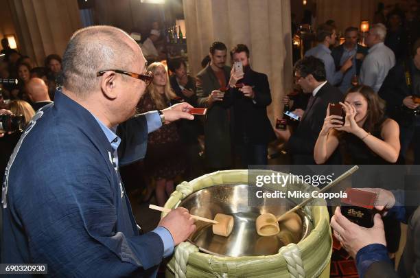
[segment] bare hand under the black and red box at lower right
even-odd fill
[[[334,229],[334,236],[341,245],[355,258],[358,251],[369,244],[382,244],[386,246],[384,222],[380,214],[375,214],[372,228],[360,227],[354,224],[341,214],[340,207],[336,208],[331,218],[331,227]]]

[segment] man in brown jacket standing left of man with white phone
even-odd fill
[[[231,111],[224,100],[224,92],[231,78],[231,68],[226,64],[226,45],[218,41],[210,46],[210,62],[197,74],[198,106],[208,108],[204,124],[205,155],[209,170],[223,170],[232,166]]]

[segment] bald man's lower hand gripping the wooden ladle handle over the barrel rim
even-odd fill
[[[167,213],[167,216],[161,219],[158,226],[164,227],[171,233],[175,246],[187,240],[196,229],[194,219],[183,207],[172,209],[170,213]]]

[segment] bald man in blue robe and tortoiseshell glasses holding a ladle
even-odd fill
[[[189,104],[133,117],[150,82],[145,69],[139,45],[122,30],[73,34],[62,90],[36,113],[5,170],[2,263],[47,264],[55,277],[154,277],[194,231],[178,208],[139,235],[119,177],[119,165],[144,156],[148,132],[194,119]]]

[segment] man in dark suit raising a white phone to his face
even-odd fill
[[[233,102],[235,146],[240,150],[242,167],[266,165],[268,143],[276,138],[267,117],[267,106],[271,103],[270,84],[264,73],[250,68],[246,45],[233,47],[231,58],[233,62],[242,62],[244,78],[237,83],[245,85],[229,90]]]

